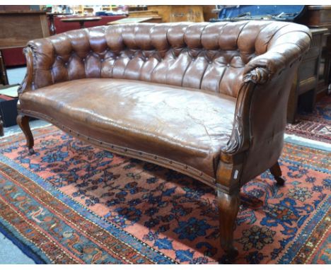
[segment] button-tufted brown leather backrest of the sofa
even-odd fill
[[[33,49],[32,87],[79,78],[126,78],[236,97],[251,60],[291,42],[291,32],[299,35],[300,27],[241,21],[139,23],[69,31],[28,43]]]

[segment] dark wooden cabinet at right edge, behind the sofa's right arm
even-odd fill
[[[308,6],[298,23],[313,33],[310,50],[303,58],[294,81],[288,107],[288,122],[296,110],[311,112],[315,101],[331,92],[331,6]]]

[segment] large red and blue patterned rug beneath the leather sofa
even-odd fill
[[[50,126],[0,140],[0,230],[37,263],[217,264],[213,189]],[[330,153],[286,143],[286,184],[241,190],[237,264],[330,264]]]

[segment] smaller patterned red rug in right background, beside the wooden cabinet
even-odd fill
[[[286,133],[331,143],[331,96],[320,100],[312,113],[297,115],[296,124],[288,124]]]

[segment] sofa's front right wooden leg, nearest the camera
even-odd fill
[[[233,230],[240,205],[239,192],[225,194],[218,190],[217,205],[219,207],[221,247],[229,258],[234,259],[238,255],[238,250],[233,246]]]

